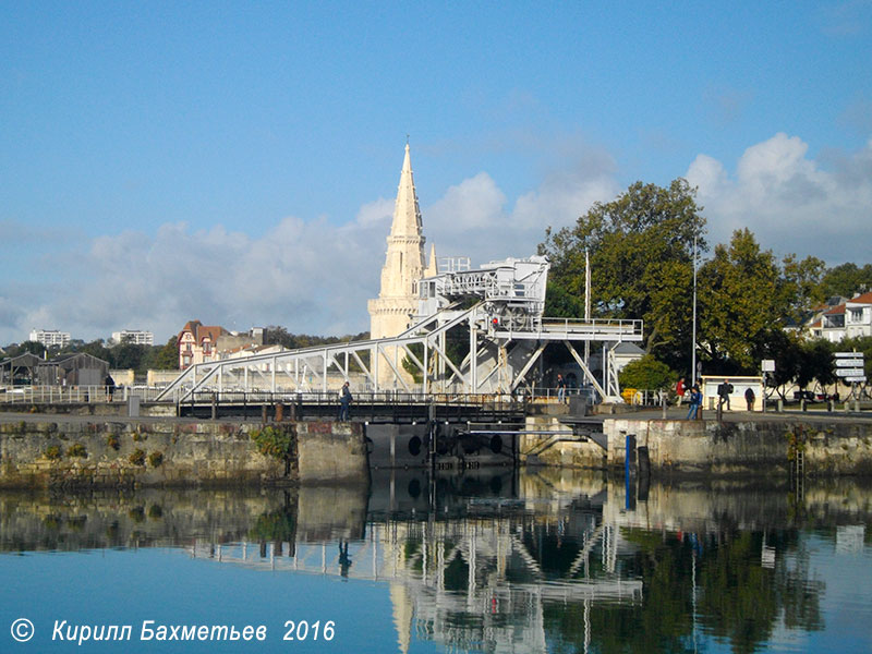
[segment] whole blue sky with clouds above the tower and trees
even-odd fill
[[[872,263],[872,0],[0,3],[0,344],[368,329],[407,140],[438,256],[683,177]]]

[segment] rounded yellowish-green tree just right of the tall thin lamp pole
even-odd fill
[[[756,372],[756,343],[784,326],[778,266],[746,228],[700,269],[700,347],[720,372]]]

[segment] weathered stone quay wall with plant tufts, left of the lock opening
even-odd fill
[[[291,456],[262,453],[257,423],[27,416],[0,424],[0,488],[360,483],[368,480],[353,423],[275,423]]]

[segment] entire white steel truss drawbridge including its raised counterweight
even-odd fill
[[[222,402],[231,393],[255,391],[306,398],[335,392],[343,380],[375,397],[513,397],[532,389],[531,373],[545,348],[562,343],[584,383],[604,400],[620,402],[615,348],[641,342],[642,320],[543,317],[547,270],[547,259],[531,257],[423,279],[417,283],[419,316],[398,336],[199,363],[157,399],[183,404],[206,392]],[[449,339],[455,351],[465,353],[452,358]],[[580,343],[585,352],[592,343],[602,346],[602,379],[579,353]]]

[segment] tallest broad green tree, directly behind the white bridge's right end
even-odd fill
[[[646,352],[686,365],[694,238],[700,252],[707,249],[701,211],[683,179],[668,189],[635,182],[613,202],[596,203],[574,226],[548,228],[538,246],[552,262],[546,314],[582,317],[581,301],[567,296],[584,295],[586,251],[595,315],[644,319]]]

